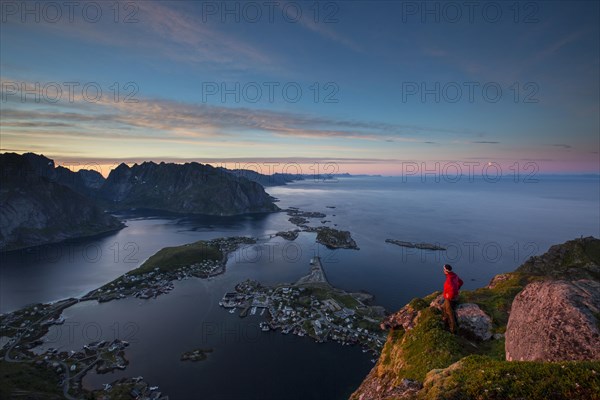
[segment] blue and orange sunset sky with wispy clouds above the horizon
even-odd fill
[[[595,1],[77,4],[2,2],[2,152],[600,172]]]

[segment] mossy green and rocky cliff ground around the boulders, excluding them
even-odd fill
[[[413,328],[390,330],[377,364],[351,400],[600,399],[600,360],[506,361],[504,338],[511,304],[527,284],[598,281],[599,266],[600,240],[576,239],[552,246],[484,288],[463,291],[460,303],[475,303],[491,317],[494,339],[485,342],[444,329],[440,311],[430,307],[439,292],[413,299],[399,312],[415,316]]]

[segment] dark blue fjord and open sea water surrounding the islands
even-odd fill
[[[333,285],[366,290],[389,311],[439,290],[440,266],[446,262],[455,266],[465,288],[483,286],[552,244],[581,235],[599,237],[599,185],[597,177],[456,184],[371,177],[268,189],[281,208],[327,214],[327,225],[351,231],[359,251],[328,250],[315,243],[314,233],[302,233],[294,242],[270,238],[295,228],[284,213],[123,215],[128,227],[112,235],[2,255],[0,310],[80,296],[166,246],[221,236],[258,237],[257,245],[232,254],[226,273],[211,280],[176,282],[175,290],[157,299],[85,302],[65,310],[65,324],[51,329],[42,348],[80,349],[100,338],[129,340],[127,369],[91,373],[84,380],[88,387],[142,375],[172,399],[343,399],[372,366],[369,354],[262,333],[260,317],[240,319],[218,307],[223,293],[247,278],[293,282],[306,274],[314,254],[322,257]],[[439,243],[448,251],[401,248],[385,243],[387,238]],[[179,361],[182,352],[198,347],[214,352],[203,362]]]

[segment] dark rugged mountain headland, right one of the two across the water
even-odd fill
[[[258,183],[198,163],[145,162],[133,167],[121,164],[111,171],[99,194],[115,209],[207,215],[278,210]]]

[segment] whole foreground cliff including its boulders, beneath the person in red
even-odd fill
[[[599,266],[598,239],[552,246],[462,292],[456,336],[437,293],[414,299],[384,321],[387,342],[351,399],[600,398]]]

